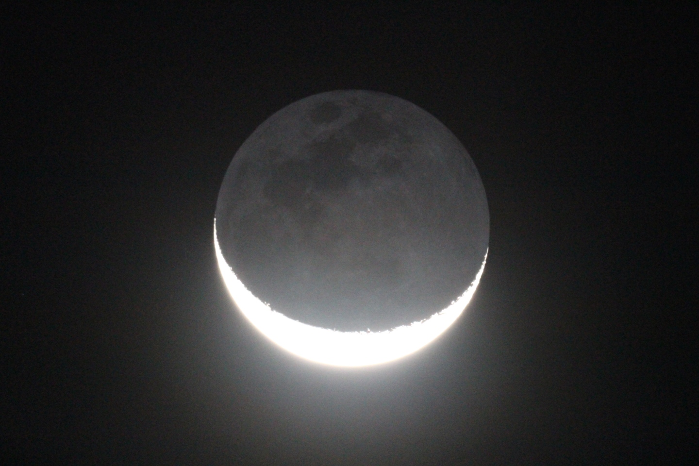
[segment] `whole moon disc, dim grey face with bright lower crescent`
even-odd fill
[[[324,92],[245,140],[214,247],[240,312],[317,363],[387,363],[435,340],[480,282],[489,212],[454,134],[408,101]]]

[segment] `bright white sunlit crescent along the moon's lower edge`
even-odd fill
[[[317,363],[359,367],[394,361],[435,340],[456,321],[480,282],[488,257],[468,289],[445,310],[428,319],[382,332],[339,332],[310,326],[280,314],[263,303],[236,276],[219,247],[214,221],[214,247],[219,270],[231,298],[247,319],[270,340],[296,356]]]

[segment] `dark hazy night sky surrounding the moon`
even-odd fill
[[[258,3],[2,8],[2,463],[696,456],[696,7]],[[212,247],[238,147],[333,89],[440,119],[491,216],[468,312],[368,370],[261,337]]]

